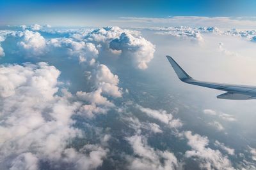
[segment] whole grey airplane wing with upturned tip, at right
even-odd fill
[[[224,94],[217,96],[218,99],[230,99],[230,100],[250,100],[256,99],[256,86],[248,86],[248,85],[232,85],[232,84],[225,84],[225,83],[211,83],[205,81],[198,81],[191,76],[189,76],[182,67],[175,62],[170,56],[166,56],[169,60],[170,64],[172,65],[175,73],[179,77],[181,81],[184,83],[189,83],[191,85],[198,85],[202,87],[207,87],[216,90],[223,90],[225,91]]]

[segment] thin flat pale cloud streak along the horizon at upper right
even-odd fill
[[[136,25],[138,27],[157,26],[189,26],[189,27],[212,27],[212,25],[221,28],[239,27],[253,28],[256,25],[253,17],[198,17],[198,16],[173,16],[166,18],[147,18],[147,17],[120,17],[118,20],[111,20],[113,24],[119,24],[125,27]]]

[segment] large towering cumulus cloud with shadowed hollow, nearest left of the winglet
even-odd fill
[[[104,27],[86,34],[83,39],[103,45],[103,48],[111,50],[113,53],[120,51],[121,59],[131,60],[139,69],[146,69],[148,62],[154,57],[155,46],[141,37],[138,31],[129,31],[119,27]]]

